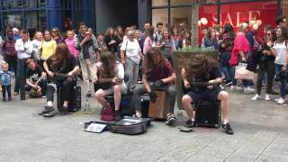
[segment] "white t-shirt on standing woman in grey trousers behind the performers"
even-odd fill
[[[124,40],[121,45],[121,50],[126,51],[126,57],[131,58],[133,62],[139,64],[140,56],[139,52],[141,51],[138,40]]]

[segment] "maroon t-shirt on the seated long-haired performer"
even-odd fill
[[[148,72],[148,76],[150,76],[149,81],[155,82],[159,79],[172,76],[173,73],[174,73],[173,67],[168,61],[165,60],[163,66],[154,65],[152,71]]]

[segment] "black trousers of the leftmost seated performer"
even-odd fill
[[[54,102],[54,92],[56,91],[57,88],[61,88],[61,96],[63,97],[63,101],[69,101],[69,99],[71,97],[73,97],[72,95],[72,90],[73,90],[73,86],[76,85],[76,81],[75,80],[65,80],[62,83],[58,83],[58,84],[53,84],[50,83],[47,85],[47,92],[46,92],[46,96],[47,96],[47,101],[49,102]]]

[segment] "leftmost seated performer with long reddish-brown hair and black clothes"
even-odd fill
[[[68,101],[72,94],[72,87],[76,85],[75,76],[79,72],[79,67],[76,65],[76,59],[70,55],[67,45],[59,43],[55,53],[48,58],[43,67],[48,75],[47,85],[47,105],[42,113],[53,112],[54,92],[58,87],[61,87],[62,99],[64,101],[62,109],[59,110],[60,115],[67,114]]]

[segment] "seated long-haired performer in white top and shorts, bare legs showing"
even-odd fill
[[[100,85],[100,89],[95,92],[96,100],[103,105],[106,109],[111,109],[111,105],[105,100],[105,96],[109,94],[114,94],[114,104],[115,104],[115,120],[120,121],[120,102],[121,94],[127,92],[127,86],[124,83],[124,67],[123,65],[116,61],[115,55],[110,51],[105,51],[101,54],[101,62],[96,64],[96,76],[94,76],[94,83],[100,84],[103,78],[111,78],[108,82],[108,87],[103,87]],[[110,83],[109,83],[110,82]],[[107,85],[107,84],[105,84]]]

